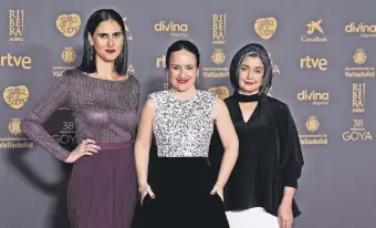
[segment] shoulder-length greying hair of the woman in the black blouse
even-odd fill
[[[267,50],[259,43],[250,43],[244,45],[233,56],[230,64],[230,80],[233,90],[238,91],[240,89],[239,70],[241,63],[247,56],[260,58],[264,69],[260,94],[267,94],[272,86],[273,69]]]

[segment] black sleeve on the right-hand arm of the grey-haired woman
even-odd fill
[[[283,186],[297,188],[304,159],[297,129],[288,105],[282,105],[279,118]]]

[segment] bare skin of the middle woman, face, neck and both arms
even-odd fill
[[[197,90],[195,87],[195,82],[199,75],[199,70],[195,54],[186,50],[173,52],[167,71],[169,75],[170,93],[176,99],[187,100],[196,96]],[[224,147],[224,155],[217,183],[210,194],[218,194],[223,200],[223,186],[226,185],[238,158],[239,141],[232,125],[229,111],[227,110],[224,102],[220,99],[216,101],[212,117]],[[149,194],[152,198],[157,197],[153,193],[153,186],[149,186],[147,183],[154,118],[154,101],[147,100],[142,111],[135,142],[135,160],[142,201],[147,194]]]

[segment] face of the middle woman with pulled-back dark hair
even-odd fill
[[[195,87],[199,70],[194,53],[186,50],[173,52],[167,70],[173,89],[185,92]]]

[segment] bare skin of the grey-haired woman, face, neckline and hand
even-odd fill
[[[247,56],[241,63],[239,71],[240,94],[252,95],[260,92],[264,74],[264,65],[260,58]],[[251,117],[258,102],[239,103],[244,122]],[[292,199],[295,188],[284,187],[282,203],[278,210],[281,228],[291,228],[293,222]]]

